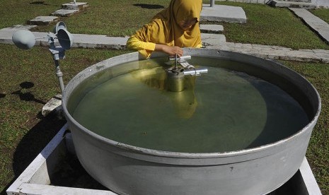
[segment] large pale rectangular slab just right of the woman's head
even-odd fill
[[[243,8],[238,6],[224,6],[214,5],[210,7],[209,4],[204,4],[200,20],[215,21],[227,23],[246,23],[247,17]]]

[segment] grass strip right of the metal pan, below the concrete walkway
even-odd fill
[[[313,129],[306,157],[323,194],[329,194],[329,64],[284,61],[284,65],[306,77],[321,97],[321,115]]]

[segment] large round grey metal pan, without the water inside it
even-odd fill
[[[76,122],[68,112],[68,100],[77,98],[71,94],[86,78],[111,66],[139,60],[137,52],[124,54],[81,71],[64,90],[64,114],[76,155],[86,171],[117,194],[267,194],[287,182],[301,165],[320,114],[321,100],[316,89],[304,77],[275,61],[216,49],[185,48],[184,52],[192,57],[250,64],[237,71],[270,80],[289,91],[310,122],[296,134],[275,143],[225,153],[175,153],[112,141]],[[267,79],[269,75],[271,78]]]

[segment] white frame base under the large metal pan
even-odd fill
[[[48,143],[48,145],[41,151],[39,155],[30,163],[30,165],[23,171],[23,173],[16,179],[13,184],[7,189],[8,195],[13,194],[79,194],[79,195],[116,195],[110,190],[98,189],[83,189],[73,187],[58,187],[50,185],[50,175],[54,173],[59,162],[65,155],[70,155],[67,150],[67,144],[70,139],[66,138],[67,124],[57,133],[56,136]],[[292,181],[294,179],[295,181]],[[321,191],[316,183],[311,168],[308,165],[306,158],[296,172],[294,177],[289,180],[294,194],[298,195],[321,195]],[[275,194],[275,191],[270,194]],[[267,194],[267,195],[270,195]],[[294,195],[289,194],[289,195]]]

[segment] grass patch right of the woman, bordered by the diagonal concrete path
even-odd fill
[[[241,6],[246,12],[246,24],[221,23],[229,42],[278,45],[293,49],[329,49],[328,45],[287,8],[226,1],[216,4]]]

